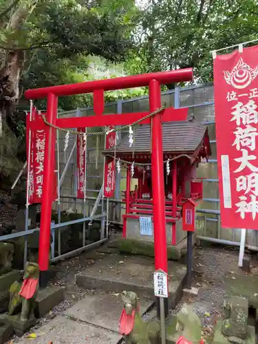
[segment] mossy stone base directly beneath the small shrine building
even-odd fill
[[[193,246],[195,245],[196,235],[193,235]],[[153,241],[145,241],[143,239],[120,238],[113,241],[108,246],[116,247],[122,253],[131,253],[132,255],[143,255],[154,257]],[[179,244],[172,246],[167,245],[167,255],[169,260],[178,261],[186,255],[187,239],[183,239]]]

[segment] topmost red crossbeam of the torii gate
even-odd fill
[[[157,80],[160,84],[180,83],[193,80],[193,68],[171,70],[169,72],[158,72],[125,76],[122,78],[111,78],[104,80],[87,81],[69,85],[58,85],[25,91],[25,98],[39,99],[46,98],[47,94],[56,96],[73,96],[74,94],[92,93],[96,89],[111,91],[114,89],[125,89],[131,87],[144,87],[149,85],[151,80]]]

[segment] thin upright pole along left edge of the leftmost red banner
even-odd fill
[[[32,107],[33,103],[30,100],[30,122],[32,121]],[[28,115],[27,115],[28,116]],[[29,129],[29,147],[28,147],[28,169],[27,169],[27,184],[26,184],[26,210],[25,210],[25,231],[29,228],[29,187],[30,187],[30,158],[31,158],[31,141],[32,141],[32,131]],[[23,268],[25,269],[26,263],[28,258],[28,236],[25,236],[24,241],[24,255],[23,255]]]

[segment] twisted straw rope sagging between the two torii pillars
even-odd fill
[[[142,122],[143,120],[147,120],[148,118],[153,117],[156,114],[159,114],[161,111],[164,111],[165,108],[166,108],[165,105],[163,105],[159,109],[156,109],[155,111],[151,112],[151,114],[148,114],[148,115],[140,118],[139,120],[136,120],[136,122],[131,123],[131,125],[122,125],[122,127],[116,127],[114,129],[109,130],[109,133],[111,131],[120,131],[120,130],[123,130],[123,129],[127,129],[129,127],[132,127],[133,125],[138,125],[138,123]],[[47,122],[47,119],[45,118],[44,114],[42,114],[41,116],[43,118],[43,121],[44,121],[45,125],[48,125],[49,127],[52,127],[54,129],[58,129],[58,130],[61,130],[61,131],[65,131],[65,133],[72,133],[74,135],[83,135],[82,131],[76,131],[76,130],[71,130],[71,129],[65,129],[65,128],[57,127],[57,125],[53,125],[52,123]],[[87,136],[105,135],[105,133],[107,133],[107,131],[94,131],[93,133],[87,133]]]

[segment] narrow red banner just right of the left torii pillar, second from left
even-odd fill
[[[78,131],[85,133],[85,128],[79,128]],[[77,197],[84,198],[86,171],[85,171],[85,159],[86,159],[86,140],[83,135],[77,135]]]

